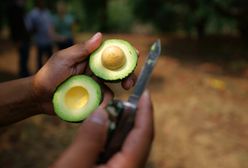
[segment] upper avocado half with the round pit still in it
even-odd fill
[[[136,49],[127,41],[109,39],[89,59],[91,71],[106,81],[119,81],[131,74],[138,61]]]

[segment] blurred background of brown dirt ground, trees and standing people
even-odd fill
[[[97,31],[140,51],[138,74],[160,38],[147,167],[248,167],[247,0],[4,0],[0,13],[1,82],[35,74],[49,53]],[[48,167],[78,126],[40,115],[0,128],[0,167]]]

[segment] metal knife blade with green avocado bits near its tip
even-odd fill
[[[154,68],[155,63],[157,62],[157,58],[161,53],[161,43],[158,39],[152,46],[143,66],[141,73],[138,77],[138,80],[134,86],[133,94],[128,98],[128,102],[137,106],[137,103],[148,84],[148,81],[151,77],[152,70]]]

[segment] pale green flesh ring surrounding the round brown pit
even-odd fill
[[[106,51],[108,47],[118,47],[124,53],[123,65],[116,66],[118,68],[107,68],[103,63],[103,52]],[[110,39],[102,43],[102,45],[90,55],[89,65],[92,72],[99,78],[106,81],[117,81],[126,78],[131,74],[138,61],[138,56],[136,49],[127,41],[120,39]],[[114,61],[118,62],[118,61]]]

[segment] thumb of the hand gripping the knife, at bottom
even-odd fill
[[[93,167],[104,147],[107,127],[107,113],[102,108],[98,108],[81,125],[76,139],[58,161],[55,162],[54,167]]]

